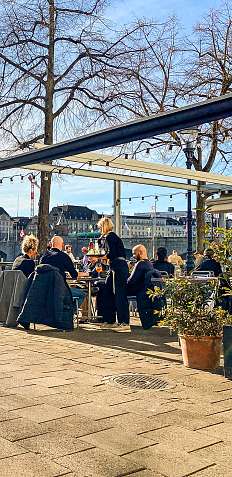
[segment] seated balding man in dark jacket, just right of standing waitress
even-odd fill
[[[149,286],[152,286],[151,278],[160,280],[161,275],[157,270],[154,270],[144,245],[136,245],[133,248],[133,255],[137,259],[137,263],[127,280],[127,295],[136,296],[142,326],[144,329],[149,329],[157,323],[154,310],[157,309],[158,300],[152,302],[146,291]],[[147,280],[148,276],[149,280]]]

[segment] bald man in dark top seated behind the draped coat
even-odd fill
[[[55,235],[51,239],[51,249],[47,250],[41,257],[40,263],[52,265],[53,267],[58,268],[66,283],[66,272],[68,272],[74,280],[76,280],[78,273],[71,258],[67,253],[63,252],[63,248],[64,241],[62,237]],[[73,298],[78,298],[80,306],[86,297],[86,291],[80,288],[71,288],[71,293]]]

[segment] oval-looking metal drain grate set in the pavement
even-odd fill
[[[119,384],[120,386],[133,389],[156,389],[162,391],[174,387],[173,384],[164,381],[157,376],[148,374],[119,374],[116,376],[108,376],[103,379],[104,382]]]

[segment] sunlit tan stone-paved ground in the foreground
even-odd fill
[[[1,477],[232,476],[232,382],[184,368],[166,329],[0,328],[0,352]]]

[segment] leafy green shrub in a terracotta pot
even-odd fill
[[[160,324],[178,333],[187,367],[215,369],[220,364],[223,326],[232,324],[232,316],[214,306],[216,291],[214,280],[185,277],[167,280],[164,290],[148,290],[151,299],[165,294],[168,304]]]

